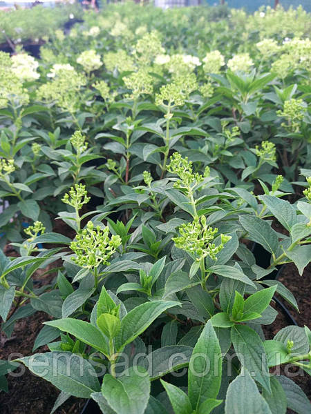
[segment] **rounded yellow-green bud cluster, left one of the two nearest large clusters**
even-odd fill
[[[109,264],[109,259],[121,244],[119,235],[109,238],[109,227],[94,226],[88,221],[86,228],[77,234],[70,248],[75,253],[73,262],[85,268],[97,268]]]

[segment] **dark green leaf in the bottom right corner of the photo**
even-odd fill
[[[288,408],[297,414],[307,414],[311,412],[311,404],[308,397],[302,391],[299,385],[288,377],[281,375],[277,379],[285,391]]]

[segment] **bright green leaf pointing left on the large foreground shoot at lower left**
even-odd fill
[[[109,348],[107,347],[104,335],[102,335],[99,329],[88,322],[66,317],[56,321],[44,322],[44,324],[59,328],[60,331],[68,332],[85,344],[98,349],[98,351],[102,352],[104,355],[109,355]]]

